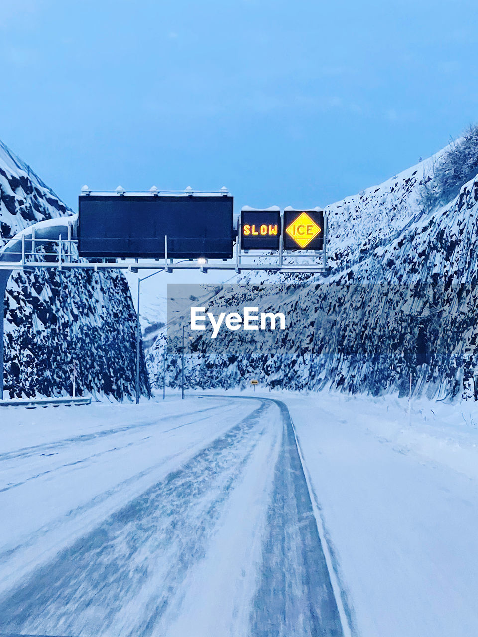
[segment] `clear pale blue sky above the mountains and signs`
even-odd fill
[[[478,122],[475,2],[0,0],[0,138],[94,189],[325,205]]]

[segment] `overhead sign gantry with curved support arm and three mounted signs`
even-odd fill
[[[278,206],[245,206],[235,225],[233,197],[226,188],[126,192],[118,187],[93,192],[84,186],[78,208],[78,215],[34,224],[12,239],[0,240],[0,269],[22,269],[26,264],[30,269],[164,267],[167,272],[326,269],[327,218],[318,207],[289,206],[281,213]],[[43,225],[49,234],[56,233],[57,240],[36,234],[40,227],[45,232]],[[53,246],[48,257],[37,249],[45,241]]]

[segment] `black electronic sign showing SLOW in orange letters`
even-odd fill
[[[241,247],[243,250],[279,250],[280,210],[241,211]]]

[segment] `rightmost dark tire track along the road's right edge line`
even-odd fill
[[[330,573],[286,404],[251,637],[344,637]]]

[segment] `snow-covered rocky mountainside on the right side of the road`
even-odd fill
[[[257,337],[254,346],[224,330],[212,347],[194,334],[190,385],[244,386],[256,377],[267,387],[405,394],[411,384],[414,394],[477,399],[477,173],[470,129],[431,159],[326,206],[328,275],[287,276],[270,288],[279,277],[255,275],[208,308],[247,301],[284,311],[287,337]],[[177,360],[174,338],[170,349]],[[162,350],[157,341],[149,355],[156,383]],[[180,364],[169,368],[175,384]]]

